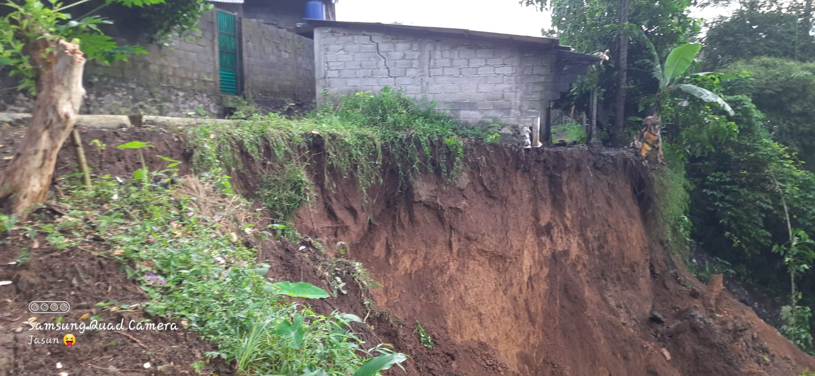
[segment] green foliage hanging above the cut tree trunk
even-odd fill
[[[77,42],[88,59],[109,64],[127,60],[128,55],[147,54],[141,46],[119,46],[106,35],[100,27],[112,24],[112,19],[126,13],[143,32],[164,42],[187,30],[196,31],[200,15],[212,8],[206,0],[7,0],[0,3],[0,68],[11,66],[11,75],[20,76],[20,88],[33,91],[42,67],[29,54],[39,50],[33,47],[39,39]]]

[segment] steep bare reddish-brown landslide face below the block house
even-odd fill
[[[378,187],[370,217],[353,184],[300,213],[312,236],[352,244],[383,284],[377,304],[428,328],[437,345],[416,356],[415,374],[815,369],[720,285],[669,266],[647,231],[645,168],[628,155],[481,146],[468,159],[453,185]]]

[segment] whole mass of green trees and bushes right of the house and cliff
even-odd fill
[[[685,0],[526,3],[552,11],[554,29],[546,33],[580,52],[611,50],[609,63],[558,107],[588,114],[591,93],[601,114],[618,112],[625,69],[623,133],[639,128],[631,120],[661,117],[667,167],[654,173],[654,202],[667,247],[687,258],[695,244],[717,260],[689,265],[700,278],[729,273],[788,302],[782,333],[813,352],[815,297],[808,291],[815,291],[815,261],[803,240],[815,234],[812,2],[736,2],[734,15],[711,22],[701,61],[692,56],[699,45],[688,43],[700,36]],[[628,24],[619,22],[622,15]],[[632,37],[627,51],[613,43],[625,35]],[[677,54],[690,58],[673,59]],[[714,69],[722,72],[708,72]],[[598,126],[614,136],[610,124]]]

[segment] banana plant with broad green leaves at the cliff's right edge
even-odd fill
[[[690,64],[694,63],[694,59],[702,48],[702,45],[698,43],[685,43],[682,46],[678,46],[668,53],[665,63],[660,64],[659,54],[657,54],[654,44],[651,43],[648,37],[645,37],[645,33],[642,32],[642,29],[636,24],[631,24],[630,27],[633,34],[639,37],[642,42],[645,42],[645,46],[648,47],[648,50],[653,56],[651,63],[654,66],[654,78],[659,82],[659,91],[657,92],[654,110],[651,115],[659,114],[659,109],[662,107],[664,101],[670,98],[676,90],[684,91],[686,94],[691,94],[705,102],[715,102],[719,104],[722,109],[727,111],[730,116],[734,115],[733,108],[730,108],[730,105],[727,104],[724,99],[712,91],[697,85],[681,83],[682,78],[685,77],[685,73],[688,72],[688,68],[690,68]]]

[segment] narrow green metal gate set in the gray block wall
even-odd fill
[[[238,64],[237,17],[218,10],[218,59],[220,61],[221,94],[238,94],[240,69]]]

